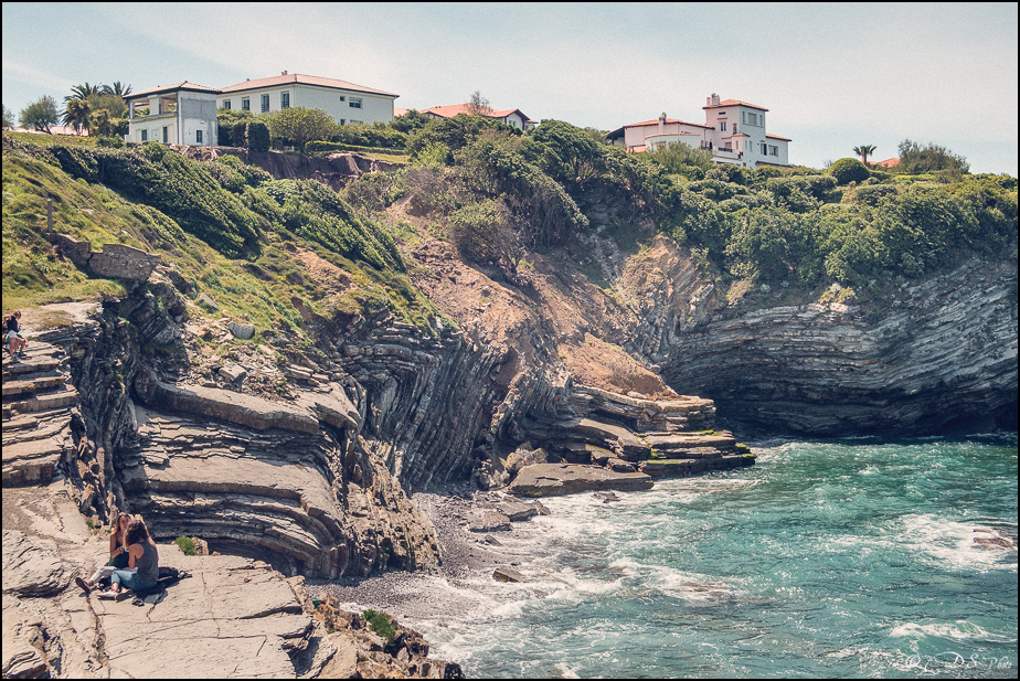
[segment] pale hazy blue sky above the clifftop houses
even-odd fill
[[[283,71],[613,130],[705,98],[768,109],[816,168],[904,139],[1017,175],[1017,3],[3,3],[3,106],[119,81],[224,87]]]

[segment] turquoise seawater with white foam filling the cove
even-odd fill
[[[1016,678],[1016,436],[756,453],[549,500],[499,538],[525,582],[407,624],[474,678]]]

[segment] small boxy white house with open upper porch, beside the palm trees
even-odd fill
[[[131,93],[125,141],[215,147],[219,92],[184,81]]]

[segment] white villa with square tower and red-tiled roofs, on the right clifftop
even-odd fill
[[[661,146],[684,142],[710,149],[716,163],[745,168],[789,166],[788,137],[765,131],[765,107],[737,99],[720,102],[712,94],[705,106],[704,125],[667,118],[634,123],[607,135],[609,141],[628,151],[654,151]]]

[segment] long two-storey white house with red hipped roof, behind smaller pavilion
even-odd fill
[[[393,100],[399,95],[354,85],[346,81],[299,73],[247,79],[219,91],[216,106],[255,114],[290,107],[322,109],[340,125],[393,120]]]

